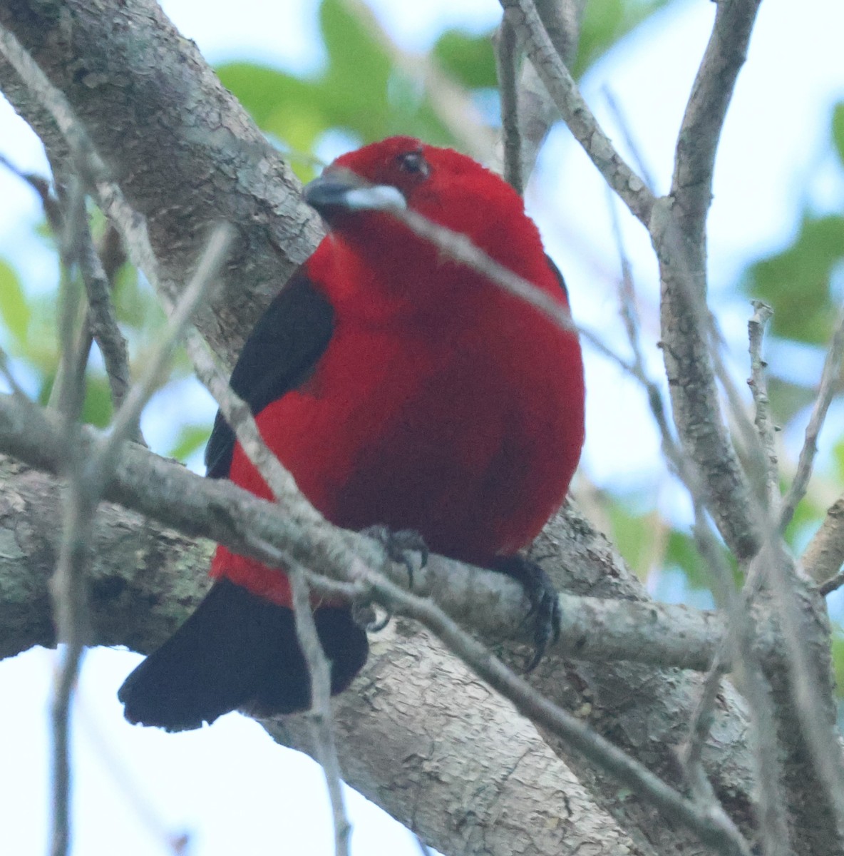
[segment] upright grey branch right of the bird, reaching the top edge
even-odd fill
[[[740,559],[758,550],[747,479],[720,416],[705,306],[705,217],[721,128],[747,56],[758,0],[718,3],[676,146],[670,201],[650,223],[662,294],[665,369],[677,429],[701,473],[718,528]]]

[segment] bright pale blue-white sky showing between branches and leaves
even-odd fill
[[[316,4],[280,0],[168,0],[162,3],[182,33],[210,62],[251,58],[279,68],[314,68],[322,58]],[[475,32],[499,20],[493,0],[370,3],[394,39],[425,50],[444,27]],[[715,3],[691,0],[656,16],[599,64],[583,91],[599,120],[618,140],[607,107],[608,88],[657,184],[670,182],[676,132]],[[841,63],[844,4],[765,0],[741,73],[719,150],[710,217],[711,299],[741,381],[748,307],[730,289],[747,262],[794,235],[800,211],[841,210],[844,187],[829,141],[829,115],[844,98]],[[328,141],[327,158],[341,141]],[[623,148],[623,146],[622,146]],[[0,104],[0,152],[22,169],[46,172],[38,141]],[[626,154],[629,155],[629,152]],[[546,245],[564,270],[581,324],[619,341],[617,247],[608,198],[595,169],[564,128],[555,129],[528,191]],[[619,207],[619,211],[621,211]],[[623,212],[622,212],[623,213]],[[11,259],[28,288],[55,288],[55,262],[32,237],[40,211],[31,191],[0,172],[0,257]],[[652,374],[658,377],[658,278],[645,232],[623,216],[624,242],[634,265]],[[812,354],[769,354],[782,372],[817,377]],[[25,380],[25,378],[24,378]],[[583,471],[594,484],[635,491],[682,517],[685,499],[658,461],[658,440],[639,389],[587,352],[587,447]],[[611,395],[602,394],[611,390]],[[192,384],[156,397],[145,414],[145,435],[161,447],[173,416],[191,407],[197,419],[214,406]],[[207,414],[207,416],[206,416]],[[841,418],[834,408],[832,419]],[[619,442],[619,427],[623,441]],[[796,442],[796,437],[787,438]],[[823,437],[822,437],[823,441]],[[823,445],[823,443],[822,443]],[[576,491],[575,491],[576,492]],[[676,519],[676,517],[675,517]],[[658,588],[658,585],[655,584]],[[670,586],[658,593],[670,597]],[[76,714],[74,853],[124,856],[166,853],[168,835],[192,834],[190,853],[330,853],[332,832],[322,774],[310,759],[281,749],[239,715],[213,728],[179,735],[131,728],[121,717],[116,688],[138,661],[126,651],[91,651]],[[0,853],[44,853],[49,778],[47,722],[50,651],[29,651],[0,663]],[[353,691],[353,689],[352,689]],[[357,795],[350,796],[352,852],[418,853],[398,824]]]

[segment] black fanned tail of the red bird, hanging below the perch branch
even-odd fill
[[[342,607],[314,611],[339,693],[366,662],[366,633]],[[263,716],[310,707],[310,677],[291,609],[218,580],[196,612],[117,693],[129,722],[168,731],[199,728],[229,710]]]

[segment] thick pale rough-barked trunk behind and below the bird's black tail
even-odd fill
[[[47,581],[57,549],[60,484],[0,456],[0,485],[0,651],[6,656],[53,644]],[[109,502],[97,514],[91,546],[91,625],[100,644],[155,648],[210,585],[204,569],[213,544]],[[507,856],[512,836],[531,817],[538,823],[534,853],[575,856],[579,847],[593,847],[654,856],[634,846],[534,728],[435,639],[398,620],[371,643],[354,689],[334,699],[341,763],[355,788],[444,853]],[[306,716],[269,724],[277,735],[283,730],[281,742],[313,751]]]

